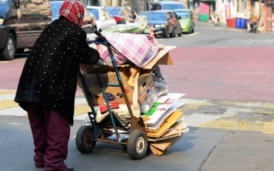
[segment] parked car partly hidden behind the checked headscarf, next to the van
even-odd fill
[[[51,3],[51,10],[52,10],[52,21],[54,21],[55,19],[59,18],[59,11],[64,1],[50,1],[50,3]],[[85,15],[83,18],[82,29],[86,31],[86,34],[92,34],[94,29],[97,29],[95,14],[90,12],[90,10],[86,8],[86,5],[84,5],[84,10],[85,10]]]

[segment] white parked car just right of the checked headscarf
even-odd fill
[[[117,24],[105,8],[99,6],[87,6],[87,8],[95,14],[98,31],[104,31]]]

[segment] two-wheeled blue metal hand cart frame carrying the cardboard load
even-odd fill
[[[126,148],[129,157],[132,159],[142,159],[145,157],[148,148],[148,139],[147,139],[147,131],[145,129],[145,124],[142,118],[136,118],[133,114],[132,107],[129,103],[129,99],[127,98],[127,94],[125,92],[125,88],[123,86],[123,82],[121,79],[121,75],[119,73],[119,67],[116,65],[114,60],[114,55],[112,53],[111,44],[105,39],[105,37],[99,32],[95,31],[98,38],[92,43],[95,44],[105,44],[108,47],[108,53],[110,54],[110,59],[112,61],[116,77],[118,79],[118,84],[111,84],[111,83],[103,83],[99,71],[96,70],[97,79],[99,81],[99,86],[101,88],[101,92],[103,93],[103,98],[105,100],[105,105],[108,108],[108,113],[110,116],[110,122],[97,122],[95,117],[97,115],[97,111],[95,110],[95,105],[92,103],[92,95],[91,92],[88,90],[88,82],[85,80],[84,75],[82,74],[81,70],[79,70],[79,80],[82,83],[82,90],[86,96],[88,101],[88,105],[91,108],[91,112],[88,112],[88,124],[83,124],[82,127],[79,128],[76,135],[76,146],[77,149],[81,153],[91,153],[93,148],[95,148],[96,142],[105,142],[105,143],[112,143],[112,144],[120,144],[124,148]],[[120,87],[121,91],[123,92],[123,97],[125,98],[125,104],[129,111],[130,115],[130,124],[129,127],[125,128],[117,122],[119,118],[116,117],[114,112],[110,107],[110,103],[105,93],[104,86],[114,86]],[[110,131],[110,128],[114,131]],[[127,136],[126,139],[123,138],[121,140],[121,133],[119,133],[119,129],[123,129],[126,132]],[[108,137],[110,135],[114,135],[115,138],[110,140]]]

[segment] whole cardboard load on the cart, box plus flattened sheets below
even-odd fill
[[[156,65],[173,64],[169,51],[174,48],[175,47],[169,46],[162,47],[162,49],[158,51],[158,54],[155,55],[153,60],[141,68],[140,75],[138,75],[138,77],[134,76],[134,86],[132,85],[133,83],[129,83],[132,82],[130,81],[130,78],[132,77],[132,66],[127,64],[119,66],[119,73],[123,81],[123,86],[125,88],[127,98],[129,98],[129,103],[132,104],[133,108],[136,105],[140,105],[140,103],[147,96],[147,93],[151,92],[151,89],[154,86],[154,82],[150,74],[151,70],[153,70]],[[123,97],[121,88],[105,85],[105,83],[118,83],[116,73],[114,72],[113,68],[109,66],[100,66],[96,69],[99,71],[99,75],[104,84],[103,87],[105,88],[105,93],[109,103],[119,104],[119,109],[116,109],[119,110],[119,112],[115,113],[120,114],[120,119],[130,118],[127,109],[122,107],[125,105],[125,98]],[[99,106],[104,105],[105,100],[97,80],[97,74],[95,73],[94,66],[87,65],[86,69],[82,70],[82,73],[86,77],[90,95],[95,97],[92,98],[92,103]],[[82,88],[81,83],[79,83],[79,86]],[[85,96],[87,96],[87,94],[85,94]],[[145,113],[141,113],[140,115],[140,109],[139,111],[137,110],[138,112],[134,112],[134,116],[136,118],[141,116],[143,120],[145,120],[147,137],[150,144],[149,148],[151,148],[153,153],[156,155],[162,155],[171,147],[171,145],[177,142],[177,140],[179,140],[182,135],[188,131],[186,124],[184,124],[184,122],[181,120],[183,116],[182,112],[177,110],[179,107],[184,105],[184,103],[177,103],[177,99],[182,98],[182,96],[184,96],[184,94],[167,93],[160,96],[158,100],[155,101],[155,103],[152,103],[153,107],[150,107],[150,109],[147,107],[146,109],[148,111],[145,111]],[[103,115],[104,114],[102,114],[102,116]],[[100,120],[102,119],[103,118]]]

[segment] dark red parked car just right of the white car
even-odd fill
[[[125,7],[105,7],[110,13],[110,16],[114,18],[117,24],[125,24],[126,22],[133,23],[134,15]]]

